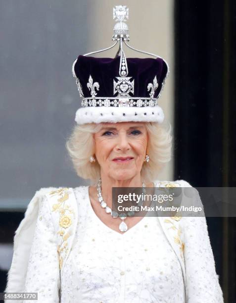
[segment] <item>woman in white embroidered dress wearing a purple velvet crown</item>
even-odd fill
[[[157,103],[167,73],[162,58],[75,60],[83,101],[67,149],[92,185],[36,193],[16,231],[6,292],[35,292],[40,303],[223,302],[205,217],[111,209],[112,187],[190,187],[157,180],[171,155]]]

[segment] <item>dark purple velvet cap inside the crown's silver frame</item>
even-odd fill
[[[128,75],[130,81],[134,80],[134,94],[131,97],[149,98],[148,83],[153,83],[156,76],[158,87],[154,98],[158,98],[168,73],[168,66],[162,58],[127,58]],[[99,83],[96,97],[115,97],[113,80],[119,75],[120,56],[117,58],[95,58],[79,55],[74,65],[74,72],[79,79],[84,98],[91,97],[87,83],[90,75],[94,82]]]

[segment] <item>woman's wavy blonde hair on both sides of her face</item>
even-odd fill
[[[146,122],[148,134],[147,153],[149,162],[144,162],[141,170],[145,182],[157,179],[158,173],[171,159],[171,125],[167,127],[157,122]],[[93,134],[98,132],[102,124],[76,125],[66,142],[67,151],[79,177],[97,182],[100,178],[98,162],[91,163],[90,156],[95,153]]]

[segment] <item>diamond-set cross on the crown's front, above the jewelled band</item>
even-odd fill
[[[113,94],[118,93],[118,97],[128,97],[130,93],[134,95],[135,80],[131,82],[131,78],[132,77],[116,77],[118,81],[113,80]]]

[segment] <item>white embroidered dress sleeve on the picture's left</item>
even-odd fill
[[[25,292],[38,293],[37,302],[59,303],[60,275],[56,239],[47,197],[43,196],[40,201],[25,281]],[[35,301],[23,302],[34,303]]]

